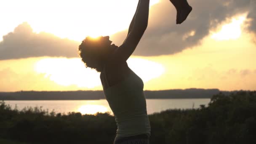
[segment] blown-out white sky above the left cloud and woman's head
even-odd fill
[[[158,2],[150,0],[150,5]],[[0,13],[8,11],[8,17],[16,19],[2,22],[0,35],[11,32],[13,27],[25,21],[35,32],[50,32],[77,41],[86,36],[112,35],[129,27],[136,5],[137,0],[75,0],[72,3],[63,0],[7,0],[4,5],[0,2]],[[9,11],[10,7],[19,13]]]

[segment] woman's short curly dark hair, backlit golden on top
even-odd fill
[[[110,47],[111,43],[109,37],[86,37],[78,48],[79,56],[85,63],[85,67],[90,67],[101,72],[104,67],[106,55],[108,54],[108,48],[106,47]]]

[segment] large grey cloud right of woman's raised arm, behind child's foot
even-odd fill
[[[149,27],[134,52],[140,56],[157,56],[181,52],[195,46],[209,34],[209,30],[226,18],[249,11],[253,20],[255,7],[250,8],[253,0],[189,0],[193,7],[188,19],[181,25],[176,25],[176,10],[168,0],[162,0],[152,6]],[[256,27],[252,21],[250,29]],[[195,32],[195,35],[189,35]],[[121,44],[126,32],[113,35],[117,44]]]

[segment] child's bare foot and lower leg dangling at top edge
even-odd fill
[[[187,0],[170,0],[177,10],[176,24],[181,24],[187,19],[187,16],[192,11],[192,7],[187,3]]]

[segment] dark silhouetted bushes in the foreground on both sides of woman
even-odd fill
[[[149,120],[151,144],[256,144],[256,91],[219,93],[208,107],[167,110],[149,115]],[[115,118],[108,113],[62,115],[38,107],[18,111],[0,103],[0,139],[112,144],[116,128]]]

